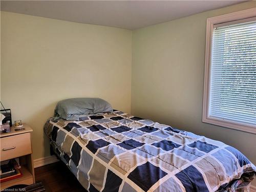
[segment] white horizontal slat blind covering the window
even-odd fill
[[[214,28],[209,117],[256,125],[256,22]]]

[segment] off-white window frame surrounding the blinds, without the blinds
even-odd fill
[[[202,121],[205,123],[215,124],[235,130],[256,134],[256,126],[246,123],[239,123],[231,120],[223,120],[214,117],[209,117],[209,91],[210,91],[210,69],[211,69],[211,41],[214,25],[225,26],[225,23],[232,24],[240,23],[242,19],[251,19],[256,17],[256,8],[251,8],[243,11],[220,15],[207,18],[206,20],[206,39],[205,39],[205,66],[204,66],[204,93],[203,93],[203,113]]]

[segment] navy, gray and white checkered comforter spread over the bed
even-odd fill
[[[50,118],[44,130],[88,191],[235,191],[256,171],[220,141],[120,111],[80,121]]]

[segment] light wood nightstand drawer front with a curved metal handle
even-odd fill
[[[1,138],[1,161],[31,153],[30,133]]]

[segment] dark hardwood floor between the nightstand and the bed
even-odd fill
[[[47,192],[87,191],[62,162],[35,168],[35,180],[42,181]]]

